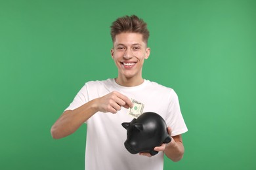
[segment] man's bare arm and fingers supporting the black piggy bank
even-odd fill
[[[168,133],[171,135],[171,127],[168,127]],[[179,161],[184,154],[184,146],[182,143],[181,135],[171,137],[171,142],[167,144],[161,144],[161,146],[155,147],[154,150],[160,152],[163,151],[165,155],[172,161]],[[140,155],[151,157],[150,153],[140,153]]]

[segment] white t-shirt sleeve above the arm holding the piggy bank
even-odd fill
[[[171,136],[180,135],[188,131],[181,114],[178,95],[174,90],[171,90],[170,93],[166,124],[171,127]]]

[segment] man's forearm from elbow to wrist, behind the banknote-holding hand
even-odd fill
[[[77,109],[67,110],[52,126],[51,135],[54,139],[71,135],[96,112],[95,100],[89,101]]]

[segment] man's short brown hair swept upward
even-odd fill
[[[116,35],[120,33],[140,33],[146,44],[150,35],[146,22],[135,15],[117,18],[112,23],[110,34],[113,42],[116,39]]]

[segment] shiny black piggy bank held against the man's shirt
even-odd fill
[[[171,142],[165,120],[155,112],[144,112],[139,118],[121,125],[127,129],[125,148],[131,154],[149,152],[154,156],[158,154],[154,147]]]

